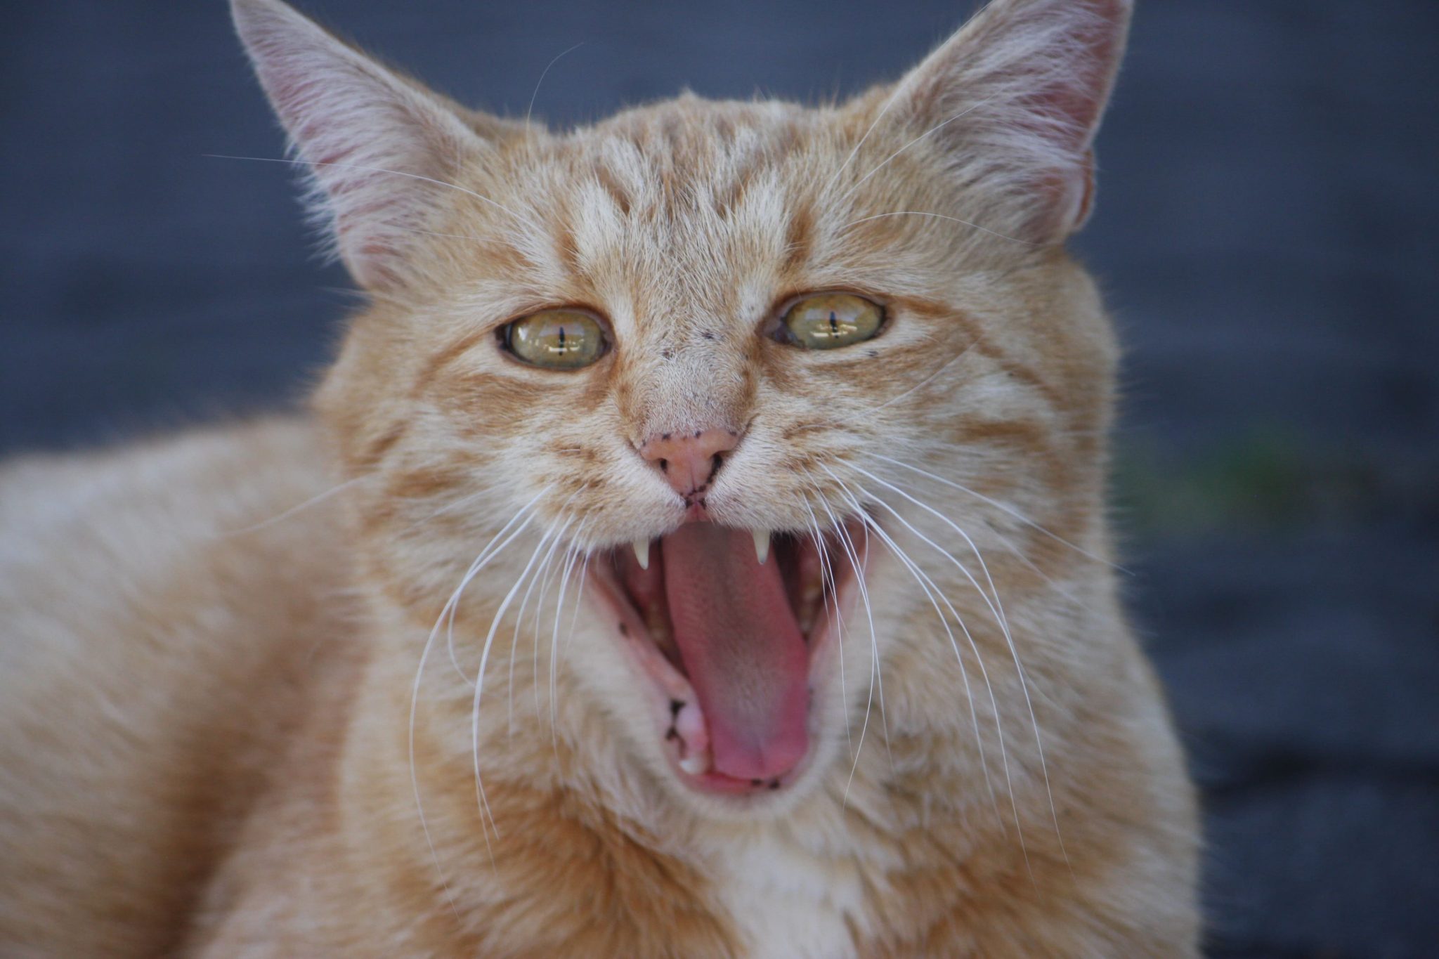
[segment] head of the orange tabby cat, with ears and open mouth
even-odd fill
[[[994,0],[840,105],[573,131],[235,9],[370,295],[319,394],[364,572],[426,627],[473,574],[462,671],[543,602],[518,648],[625,761],[777,807],[848,769],[876,676],[895,735],[967,719],[1000,597],[1101,549],[1114,348],[1063,240],[1127,0]]]

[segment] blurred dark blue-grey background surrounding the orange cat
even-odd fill
[[[312,0],[583,122],[891,79],[968,0]],[[1204,788],[1213,956],[1439,955],[1433,0],[1148,0],[1076,247],[1125,341],[1127,589]],[[292,404],[351,302],[219,0],[4,3],[0,453]]]

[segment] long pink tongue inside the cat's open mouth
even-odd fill
[[[709,723],[714,771],[771,779],[809,748],[809,650],[774,556],[748,531],[685,523],[663,539],[675,644]]]

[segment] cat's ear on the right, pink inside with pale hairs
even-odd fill
[[[932,138],[993,230],[1030,243],[1078,230],[1094,135],[1132,0],[991,0],[895,88],[889,112]]]

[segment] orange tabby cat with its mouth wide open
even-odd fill
[[[1065,250],[1128,0],[564,132],[233,14],[367,305],[0,472],[0,953],[1199,955]]]

